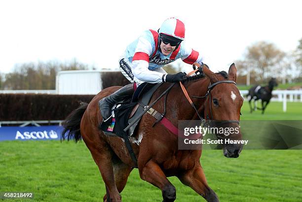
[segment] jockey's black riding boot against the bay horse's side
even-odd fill
[[[134,93],[133,83],[130,83],[120,88],[113,94],[101,99],[99,101],[99,106],[101,108],[101,115],[103,117],[103,121],[106,121],[111,116],[111,109],[115,103],[120,102],[123,99],[132,96],[133,93]]]

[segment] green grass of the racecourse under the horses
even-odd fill
[[[264,115],[242,107],[242,120],[302,120],[302,103],[270,103]],[[244,150],[225,158],[220,150],[201,157],[208,184],[221,202],[302,202],[301,150]],[[176,177],[176,202],[205,201]],[[83,142],[0,142],[0,192],[33,192],[17,202],[101,202],[105,194],[99,170]],[[134,169],[122,192],[124,202],[161,202],[161,192]]]

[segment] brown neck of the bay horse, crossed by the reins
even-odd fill
[[[198,113],[203,110],[203,104],[205,98],[193,98],[193,96],[204,96],[207,93],[208,86],[209,86],[209,79],[204,78],[197,81],[189,81],[185,84],[185,88],[189,94],[190,99],[194,103]],[[184,95],[183,91],[179,89],[180,92],[177,93],[175,100],[177,101],[177,108],[178,108],[178,120],[192,120],[194,117],[197,117],[196,111],[194,108],[189,104],[186,96]]]

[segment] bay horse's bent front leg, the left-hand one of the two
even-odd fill
[[[176,199],[176,189],[167,179],[159,165],[152,160],[143,167],[139,165],[140,176],[143,180],[151,183],[161,190],[163,202],[174,202]]]

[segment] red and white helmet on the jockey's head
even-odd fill
[[[185,40],[185,24],[174,17],[166,19],[158,30],[159,34],[165,34],[179,40]]]

